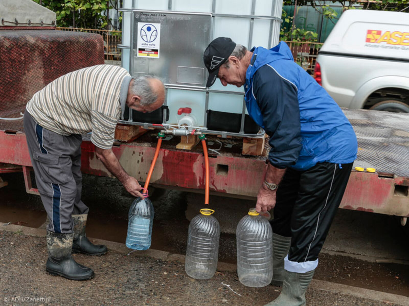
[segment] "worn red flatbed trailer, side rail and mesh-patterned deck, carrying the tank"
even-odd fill
[[[340,208],[409,217],[409,114],[344,109],[358,139],[355,166],[375,168],[375,173],[352,170]],[[112,150],[124,169],[144,182],[155,154],[158,130],[135,142],[115,142]],[[83,173],[112,176],[95,155],[95,147],[83,137]],[[200,144],[192,151],[175,149],[180,137],[166,136],[151,178],[153,186],[203,192],[205,160]],[[241,154],[242,140],[209,135],[210,191],[212,194],[255,199],[267,168],[266,150],[261,156]],[[212,151],[214,150],[214,151]],[[31,166],[22,120],[0,121],[0,163]],[[11,165],[11,166],[12,166]],[[7,169],[10,168],[10,165]],[[1,173],[1,170],[0,170]]]

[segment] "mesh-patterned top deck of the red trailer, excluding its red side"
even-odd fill
[[[409,177],[409,114],[361,109],[343,109],[343,111],[351,122],[358,139],[358,157],[354,166],[375,168],[376,172],[381,175]],[[0,131],[24,133],[22,120],[0,120]],[[146,133],[132,144],[153,146],[156,143],[156,134],[154,131]],[[89,140],[89,135],[83,138],[85,141]],[[215,150],[209,152],[211,156],[243,156],[240,139],[222,139],[212,135],[209,135],[207,139],[209,149]],[[175,149],[179,141],[180,137],[166,136],[162,148]],[[247,158],[266,159],[269,149],[266,141],[263,156]],[[191,152],[201,152],[201,150],[201,146],[198,145]]]

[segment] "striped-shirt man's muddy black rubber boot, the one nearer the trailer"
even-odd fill
[[[84,253],[86,255],[104,255],[108,248],[102,244],[92,244],[85,235],[87,215],[72,215],[74,222],[74,241],[72,242],[72,253]]]

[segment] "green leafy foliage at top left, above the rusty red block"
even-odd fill
[[[88,29],[104,29],[108,19],[102,13],[112,9],[109,0],[43,0],[43,7],[56,13],[57,27]]]

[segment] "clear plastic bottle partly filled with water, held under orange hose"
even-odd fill
[[[126,246],[134,250],[147,250],[151,247],[153,205],[147,197],[133,201],[128,213],[128,233]]]

